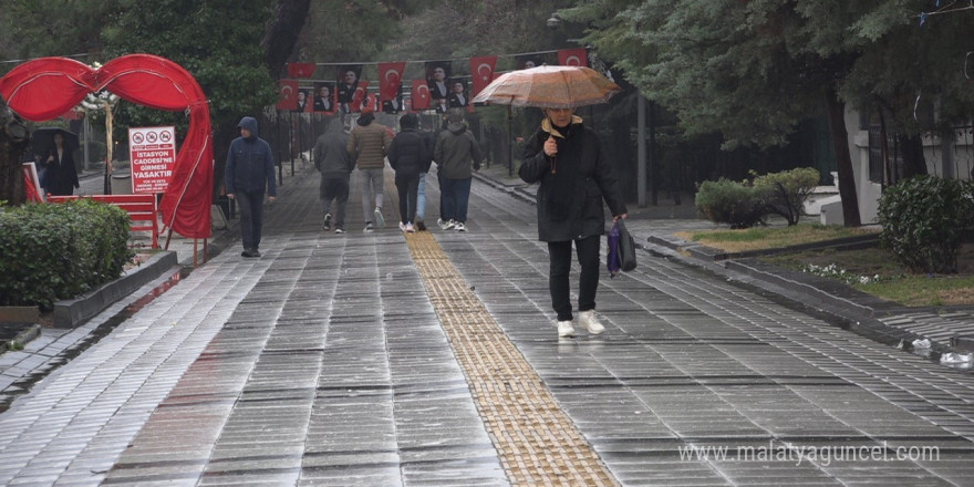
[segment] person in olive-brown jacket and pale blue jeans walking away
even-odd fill
[[[388,155],[388,146],[392,135],[385,125],[375,122],[375,114],[371,106],[362,110],[362,115],[355,121],[355,127],[349,137],[346,149],[359,166],[362,180],[362,213],[365,215],[364,231],[385,226],[382,215],[385,156]],[[373,201],[375,209],[373,210]],[[373,226],[373,221],[375,225]]]

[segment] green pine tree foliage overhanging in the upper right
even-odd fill
[[[626,77],[675,112],[688,134],[721,132],[727,145],[787,142],[822,113],[832,90],[859,108],[881,106],[908,133],[970,120],[963,75],[974,12],[931,17],[922,0],[600,0],[564,17]],[[914,117],[925,94],[936,121]],[[936,123],[935,123],[936,122]]]

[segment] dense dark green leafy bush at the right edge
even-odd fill
[[[880,240],[914,272],[954,273],[972,228],[970,182],[919,176],[887,188],[879,200]]]

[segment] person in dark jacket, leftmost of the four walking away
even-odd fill
[[[335,118],[329,131],[321,134],[314,143],[312,156],[314,167],[321,173],[321,209],[324,214],[322,229],[331,230],[331,203],[335,201],[335,234],[345,232],[345,205],[349,203],[349,175],[355,168],[355,160],[349,154],[350,127]]]

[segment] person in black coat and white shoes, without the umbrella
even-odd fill
[[[574,335],[569,296],[572,242],[581,266],[579,323],[589,333],[599,334],[605,330],[595,318],[599,250],[605,232],[602,200],[609,205],[613,221],[626,217],[625,203],[598,136],[574,110],[546,108],[545,114],[541,127],[527,141],[518,175],[525,183],[540,183],[538,239],[548,242],[548,289],[558,317],[558,335]]]

